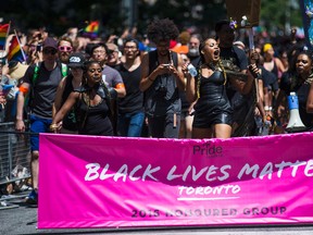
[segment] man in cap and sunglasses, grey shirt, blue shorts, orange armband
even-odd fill
[[[26,202],[38,203],[38,172],[39,172],[39,135],[48,133],[52,122],[52,103],[57,88],[62,79],[62,66],[58,62],[58,42],[52,37],[47,37],[42,44],[42,62],[28,66],[23,84],[20,86],[16,109],[15,128],[25,132],[24,103],[28,95],[27,109],[30,123],[30,171],[33,190]],[[26,107],[25,107],[26,108]]]

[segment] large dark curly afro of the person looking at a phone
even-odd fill
[[[154,20],[147,28],[148,39],[158,44],[163,40],[175,40],[179,30],[173,21],[168,18]]]

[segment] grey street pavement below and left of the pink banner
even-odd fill
[[[1,197],[0,235],[30,234],[105,234],[105,235],[312,235],[310,225],[290,226],[214,226],[214,227],[153,227],[153,228],[79,228],[37,230],[36,206],[25,203],[29,191]]]

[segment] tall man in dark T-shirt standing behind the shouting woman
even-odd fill
[[[245,83],[247,83],[248,58],[243,50],[233,45],[235,30],[230,22],[227,20],[218,21],[215,24],[215,33],[221,49],[220,57],[227,76],[237,77],[238,83],[245,86]],[[231,84],[227,85],[227,96],[234,109],[231,136],[253,135],[255,128],[254,108],[256,99],[254,95],[250,94],[250,91],[252,91],[252,85],[246,86],[242,92],[239,92]]]

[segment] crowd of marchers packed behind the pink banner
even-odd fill
[[[151,22],[145,40],[132,34],[118,40],[83,39],[75,28],[60,38],[34,30],[23,47],[26,62],[1,64],[1,84],[14,81],[17,94],[15,100],[4,90],[0,95],[4,121],[14,121],[16,131],[24,132],[28,120],[34,134],[156,138],[283,134],[289,120],[288,96],[296,92],[301,120],[310,131],[313,62],[297,32],[292,29],[279,48],[273,38],[263,37],[249,49],[245,40],[236,40],[229,21],[216,22],[214,29],[203,38],[197,32],[179,32],[173,21],[163,18]],[[38,135],[30,136],[30,148],[28,201],[37,203]]]

